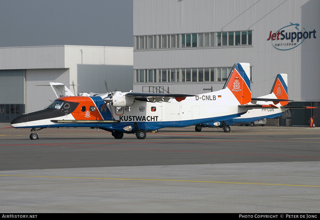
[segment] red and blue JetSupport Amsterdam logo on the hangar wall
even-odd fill
[[[292,24],[280,28],[275,33],[270,31],[268,41],[271,41],[272,46],[278,50],[286,51],[291,50],[306,39],[316,38],[316,30],[306,31],[305,28],[301,28],[300,24]]]

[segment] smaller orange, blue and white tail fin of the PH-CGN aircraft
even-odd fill
[[[278,74],[276,76],[275,82],[273,83],[270,94],[275,94],[277,99],[288,99],[288,75]],[[287,105],[288,101],[280,101],[282,106]]]

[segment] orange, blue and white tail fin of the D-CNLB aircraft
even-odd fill
[[[238,63],[232,67],[223,89],[227,88],[241,105],[251,102],[249,63]]]

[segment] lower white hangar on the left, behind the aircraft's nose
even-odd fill
[[[56,99],[49,82],[80,92],[132,90],[132,47],[0,48],[0,122],[43,109]]]

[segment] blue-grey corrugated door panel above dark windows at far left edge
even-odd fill
[[[0,104],[24,104],[24,70],[0,70]]]

